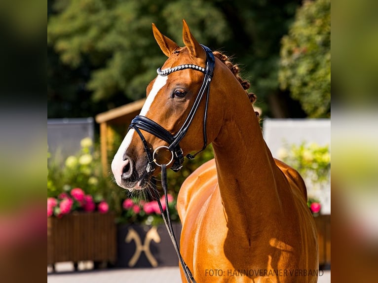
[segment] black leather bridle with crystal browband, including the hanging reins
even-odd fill
[[[172,162],[173,162],[173,164],[171,166],[171,169],[174,170],[175,172],[179,171],[183,167],[184,153],[183,153],[183,150],[181,149],[179,143],[187,134],[189,126],[190,126],[191,122],[193,121],[194,115],[197,112],[199,105],[202,101],[202,98],[204,97],[205,94],[206,94],[206,103],[205,103],[205,111],[204,111],[204,118],[203,118],[203,141],[204,141],[204,145],[203,145],[203,147],[200,151],[198,151],[194,155],[188,154],[187,157],[189,159],[193,159],[199,152],[204,150],[207,146],[207,136],[206,136],[207,107],[208,107],[208,102],[209,102],[210,82],[211,82],[211,79],[213,77],[215,59],[214,59],[213,52],[211,51],[210,48],[208,48],[208,47],[206,47],[202,44],[201,44],[201,46],[206,51],[206,68],[203,68],[203,67],[200,67],[200,66],[197,66],[197,65],[193,65],[193,64],[183,64],[183,65],[180,65],[180,66],[176,66],[176,67],[172,67],[172,68],[168,68],[168,69],[164,69],[164,70],[161,70],[160,68],[157,69],[157,74],[161,75],[161,76],[166,76],[166,75],[168,75],[172,72],[182,71],[182,70],[186,70],[186,69],[201,71],[205,74],[205,77],[204,77],[202,85],[201,85],[201,87],[198,91],[198,95],[197,95],[197,97],[194,101],[194,104],[191,107],[190,112],[188,114],[188,117],[184,121],[184,124],[181,126],[180,130],[175,135],[172,135],[170,132],[168,132],[162,126],[160,126],[156,122],[152,121],[150,118],[147,118],[147,117],[142,116],[142,115],[136,116],[131,121],[131,124],[129,126],[129,129],[132,128],[138,133],[139,137],[141,138],[141,140],[143,142],[143,146],[144,146],[144,149],[146,151],[146,155],[147,155],[147,159],[148,159],[148,165],[147,165],[146,171],[149,173],[149,172],[154,171],[156,166],[161,167],[161,177],[162,177],[161,178],[161,184],[162,184],[164,194],[165,194],[166,215],[167,216],[165,217],[164,210],[163,210],[162,205],[160,203],[159,197],[158,197],[158,195],[156,195],[157,200],[158,200],[158,204],[159,204],[159,208],[160,208],[160,212],[161,212],[161,215],[163,217],[163,220],[164,220],[165,226],[167,228],[168,234],[169,234],[169,236],[172,240],[173,246],[176,249],[177,255],[179,257],[179,260],[180,260],[181,266],[184,270],[187,281],[193,282],[193,283],[195,283],[195,280],[194,280],[188,266],[184,262],[184,259],[181,256],[181,253],[180,253],[180,250],[178,248],[177,241],[176,241],[176,237],[175,237],[175,234],[173,232],[173,227],[172,227],[170,215],[169,215],[169,212],[168,212],[166,167],[168,165],[170,165]],[[145,137],[143,136],[141,130],[146,131],[146,132],[154,135],[155,137],[157,137],[157,138],[159,138],[163,141],[166,141],[169,145],[168,146],[165,146],[165,145],[159,146],[152,151],[152,149],[148,145]],[[160,149],[165,149],[165,150],[168,150],[168,151],[171,152],[172,157],[171,157],[170,161],[166,164],[158,163],[158,161],[155,158],[155,155],[158,153],[158,151]]]

